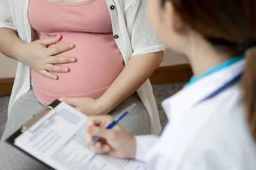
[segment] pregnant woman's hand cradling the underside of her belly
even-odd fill
[[[68,105],[74,106],[78,111],[84,113],[87,116],[100,115],[102,113],[101,105],[97,99],[89,97],[79,97],[79,98],[67,98],[63,97],[60,99],[67,103]],[[107,114],[107,113],[104,113]]]

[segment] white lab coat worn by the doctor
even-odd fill
[[[162,102],[169,123],[158,136],[136,136],[136,159],[149,170],[256,170],[256,142],[246,123],[239,83],[204,101],[244,70],[245,59]]]

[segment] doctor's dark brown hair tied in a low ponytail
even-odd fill
[[[163,7],[166,1],[172,1],[183,22],[217,50],[230,56],[246,52],[247,64],[241,78],[242,101],[247,123],[256,140],[256,0],[161,1]],[[254,47],[248,48],[248,45]]]

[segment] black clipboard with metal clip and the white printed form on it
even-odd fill
[[[145,170],[143,162],[91,151],[83,134],[86,126],[86,115],[55,100],[25,122],[6,142],[51,170],[101,169],[102,166],[104,170]],[[72,163],[66,164],[63,160]]]

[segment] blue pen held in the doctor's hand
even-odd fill
[[[126,108],[125,110],[123,110],[118,117],[116,117],[116,119],[110,124],[108,125],[107,129],[111,129],[112,127],[114,127],[123,117],[125,117],[125,115],[127,115],[127,113],[131,112],[132,110],[134,110],[134,108],[136,107],[136,104],[132,104],[131,106],[129,106],[128,108]],[[90,142],[87,147],[91,147],[93,144],[95,144],[97,141],[99,141],[100,137],[94,137],[93,141]]]

